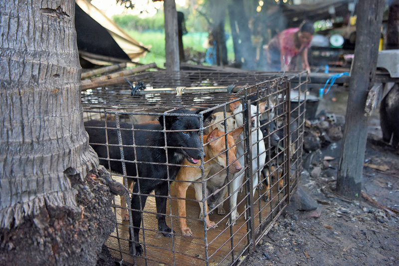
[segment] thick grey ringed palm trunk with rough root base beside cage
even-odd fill
[[[0,1],[0,265],[93,265],[114,228],[87,175],[74,14],[73,0]]]

